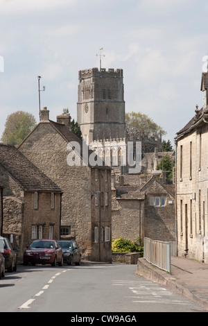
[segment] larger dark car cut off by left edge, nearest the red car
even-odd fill
[[[17,255],[7,238],[0,237],[0,252],[5,259],[5,268],[8,272],[17,271]]]

